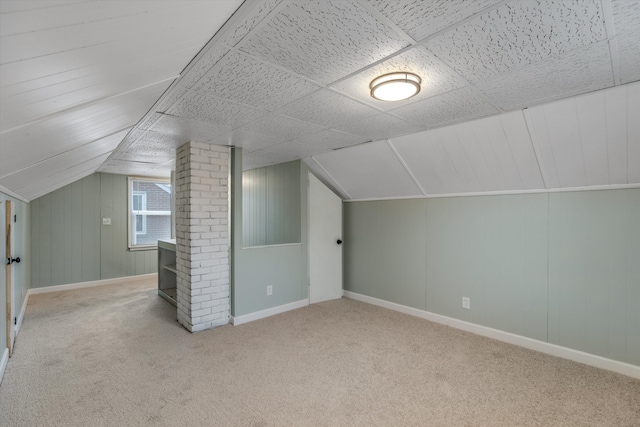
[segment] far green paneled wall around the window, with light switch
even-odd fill
[[[95,173],[31,203],[34,288],[157,271],[157,251],[127,247],[127,177]],[[102,218],[111,218],[110,226]]]

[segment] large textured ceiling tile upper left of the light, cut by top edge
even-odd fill
[[[392,28],[354,2],[291,2],[242,50],[322,84],[407,46]]]

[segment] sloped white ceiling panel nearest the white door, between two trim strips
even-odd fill
[[[314,156],[352,199],[422,196],[387,141]]]

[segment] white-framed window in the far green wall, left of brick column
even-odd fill
[[[155,248],[171,238],[171,183],[157,178],[128,181],[129,248]]]

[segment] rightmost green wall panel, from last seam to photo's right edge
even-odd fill
[[[549,341],[640,365],[640,190],[551,194]]]

